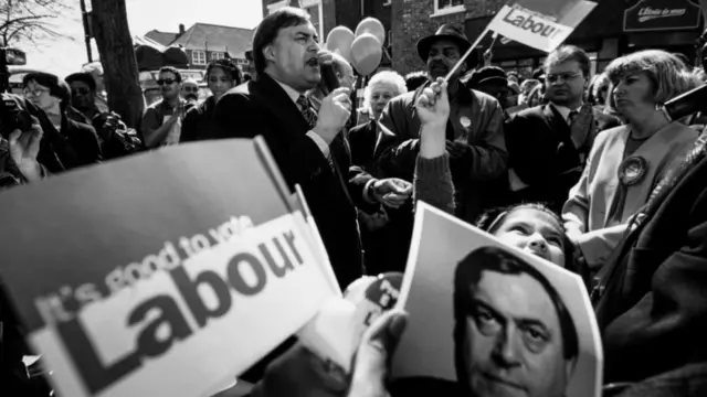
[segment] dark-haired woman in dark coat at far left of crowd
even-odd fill
[[[53,141],[65,139],[68,146],[54,142],[57,155],[66,170],[101,162],[101,144],[93,127],[72,120],[71,89],[68,84],[50,73],[28,73],[22,78],[24,97],[44,111],[53,131],[44,135]],[[76,111],[76,110],[74,110]]]

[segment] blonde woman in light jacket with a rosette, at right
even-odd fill
[[[677,57],[642,51],[614,60],[606,75],[624,125],[597,137],[587,168],[562,210],[567,232],[592,269],[614,249],[671,161],[680,158],[697,137],[694,129],[671,122],[661,110],[661,105],[697,86]]]

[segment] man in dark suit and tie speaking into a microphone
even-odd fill
[[[257,79],[231,89],[217,105],[217,137],[265,138],[289,189],[302,185],[345,288],[363,273],[356,206],[399,205],[412,189],[351,167],[339,133],[351,111],[348,88],[325,97],[318,115],[312,109],[305,94],[319,83],[320,63],[331,62],[331,54],[320,51],[305,11],[287,7],[267,15],[253,36],[253,60]]]

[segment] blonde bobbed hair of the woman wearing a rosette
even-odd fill
[[[653,83],[652,99],[656,105],[663,105],[699,85],[699,79],[680,58],[661,50],[624,55],[612,61],[605,71],[613,87],[624,76],[640,72],[645,72]]]

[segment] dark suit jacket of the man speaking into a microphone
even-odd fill
[[[334,172],[295,103],[268,75],[232,88],[217,105],[217,138],[263,136],[291,190],[300,184],[341,288],[363,273],[355,205],[371,176],[351,167],[351,151],[340,133],[331,143]],[[247,170],[241,170],[247,172]]]

